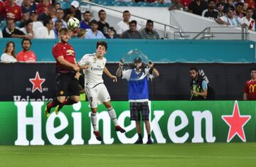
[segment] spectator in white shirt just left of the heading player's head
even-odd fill
[[[55,38],[53,31],[53,21],[50,18],[47,18],[45,21],[43,21],[43,27],[36,30],[35,38]]]

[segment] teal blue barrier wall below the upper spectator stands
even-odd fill
[[[16,54],[21,51],[21,39],[1,38],[0,50],[6,42],[14,41]],[[77,59],[86,53],[94,53],[98,40],[72,39]],[[255,42],[253,41],[193,41],[193,40],[105,40],[108,43],[106,58],[117,62],[132,49],[139,49],[154,62],[198,62],[198,63],[252,63],[255,59]],[[58,43],[57,39],[34,39],[31,50],[36,53],[38,61],[54,61],[51,50]]]

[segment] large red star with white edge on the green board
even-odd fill
[[[245,126],[250,118],[250,115],[240,115],[238,101],[235,101],[233,114],[222,116],[222,119],[225,121],[225,123],[230,126],[230,129],[228,131],[228,142],[230,142],[234,138],[235,134],[237,134],[243,142],[246,141],[243,126]]]

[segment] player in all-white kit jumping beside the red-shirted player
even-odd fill
[[[109,70],[105,67],[107,62],[104,55],[107,51],[107,43],[104,41],[98,41],[96,45],[96,53],[86,54],[82,57],[80,62],[80,68],[83,69],[85,73],[85,93],[87,95],[88,101],[91,108],[91,122],[93,126],[93,134],[95,134],[98,141],[102,141],[102,136],[97,126],[97,105],[104,104],[107,108],[116,131],[124,133],[125,130],[122,129],[117,123],[117,115],[110,104],[110,94],[107,91],[102,79],[102,74],[105,72],[113,82],[117,82],[117,77],[112,75]]]

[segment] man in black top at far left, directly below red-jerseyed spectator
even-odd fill
[[[6,21],[6,27],[3,31],[4,38],[31,38],[31,36],[25,35],[22,31],[15,28],[15,21],[14,19],[9,18]]]

